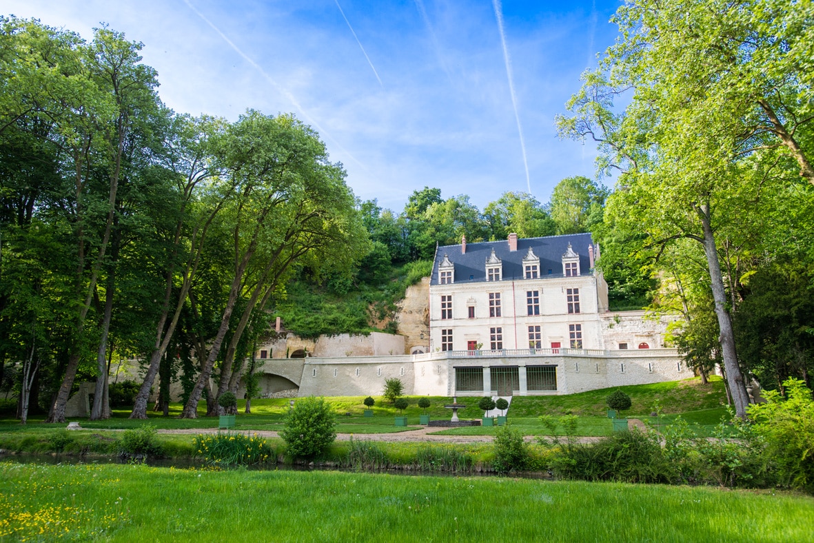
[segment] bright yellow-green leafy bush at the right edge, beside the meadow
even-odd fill
[[[749,406],[753,431],[764,441],[764,460],[780,484],[814,491],[814,401],[798,379],[783,383],[785,397],[765,392],[766,403]]]

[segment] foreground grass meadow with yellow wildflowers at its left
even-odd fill
[[[810,541],[790,493],[0,463],[0,541]]]

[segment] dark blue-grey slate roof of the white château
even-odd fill
[[[461,244],[444,245],[435,251],[435,262],[432,265],[431,285],[438,283],[438,265],[444,260],[444,255],[455,265],[453,282],[485,282],[486,260],[492,254],[503,261],[503,280],[523,278],[523,258],[532,247],[535,256],[540,258],[540,277],[562,277],[562,255],[568,250],[568,243],[575,253],[580,255],[580,275],[590,275],[590,260],[588,247],[593,244],[591,234],[565,234],[547,236],[545,238],[527,238],[517,240],[517,251],[509,251],[508,240],[484,241],[479,243],[466,243],[466,254],[461,254]]]

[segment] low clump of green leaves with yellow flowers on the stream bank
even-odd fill
[[[193,440],[195,456],[217,466],[246,466],[264,462],[277,462],[276,454],[268,442],[256,434],[247,436],[239,432],[198,434]]]

